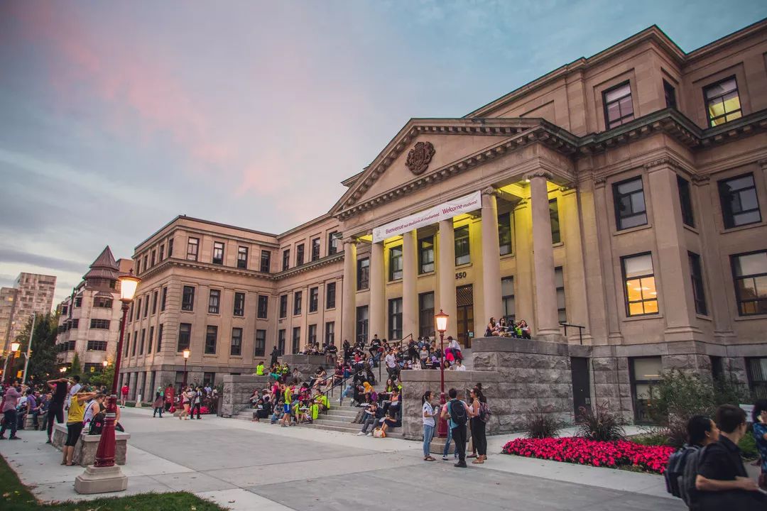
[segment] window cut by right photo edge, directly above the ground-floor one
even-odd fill
[[[731,259],[739,315],[767,314],[767,251],[733,255]]]

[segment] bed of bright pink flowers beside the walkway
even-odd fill
[[[518,438],[503,446],[504,454],[565,461],[594,467],[635,466],[663,473],[673,447],[649,446],[630,441],[597,442],[579,437]]]

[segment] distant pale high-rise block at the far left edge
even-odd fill
[[[55,291],[54,275],[26,273],[18,274],[14,287],[0,289],[0,339],[5,351],[33,313],[51,312]]]

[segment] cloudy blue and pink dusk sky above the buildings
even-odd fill
[[[322,215],[411,117],[460,117],[650,25],[683,51],[764,0],[0,0],[0,286],[176,215]]]

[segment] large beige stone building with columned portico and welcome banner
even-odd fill
[[[410,120],[285,234],[176,218],[134,254],[125,373],[179,381],[189,346],[217,381],[275,344],[433,335],[441,309],[464,346],[491,316],[525,319],[535,342],[480,342],[475,368],[535,363],[546,379],[524,391],[562,412],[598,399],[645,421],[675,367],[765,395],[765,54],[767,21],[690,53],[653,26],[466,116]],[[153,326],[162,349],[134,353]]]

